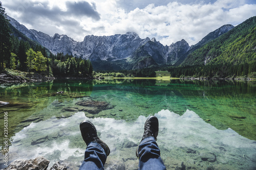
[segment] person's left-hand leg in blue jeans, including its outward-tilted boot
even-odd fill
[[[81,122],[80,131],[83,140],[87,144],[87,149],[79,170],[104,169],[106,157],[110,154],[108,145],[99,139],[96,128],[91,122]]]

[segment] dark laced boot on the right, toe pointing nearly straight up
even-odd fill
[[[144,124],[144,133],[143,133],[141,141],[150,136],[153,136],[155,138],[155,140],[157,140],[158,125],[159,125],[158,118],[156,116],[148,117]],[[138,157],[138,148],[136,150],[136,156]]]

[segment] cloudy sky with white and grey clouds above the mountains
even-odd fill
[[[255,0],[0,0],[6,13],[25,25],[76,41],[86,35],[135,32],[164,45],[185,39],[196,44],[225,24],[256,15]]]

